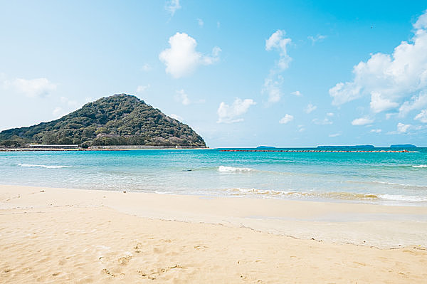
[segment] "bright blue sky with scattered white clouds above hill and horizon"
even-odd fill
[[[0,130],[127,93],[209,147],[427,147],[426,1],[0,6]]]

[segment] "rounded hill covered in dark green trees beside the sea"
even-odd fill
[[[58,120],[0,132],[3,147],[28,143],[206,147],[188,125],[125,94],[89,102]]]

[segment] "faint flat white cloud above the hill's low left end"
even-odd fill
[[[30,98],[46,97],[46,95],[56,90],[56,84],[51,83],[46,78],[37,78],[31,80],[16,78],[11,83],[9,81],[5,81],[4,85],[6,88],[11,86],[18,93],[22,93]]]

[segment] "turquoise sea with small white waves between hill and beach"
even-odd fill
[[[427,148],[416,151],[0,152],[0,184],[427,206]]]

